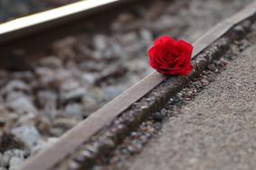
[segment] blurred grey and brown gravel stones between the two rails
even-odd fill
[[[108,33],[59,39],[32,71],[0,70],[0,166],[15,169],[152,72],[146,51],[154,38],[192,42],[249,2],[154,0],[119,14]]]

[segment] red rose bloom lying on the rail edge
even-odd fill
[[[184,40],[175,41],[164,36],[154,41],[149,49],[149,63],[157,71],[170,75],[189,75],[193,67],[193,47]]]

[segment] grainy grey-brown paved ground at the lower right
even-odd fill
[[[128,169],[234,170],[256,166],[256,46],[172,117]]]

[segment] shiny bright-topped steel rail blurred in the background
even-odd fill
[[[0,23],[0,45],[133,0],[86,0]]]

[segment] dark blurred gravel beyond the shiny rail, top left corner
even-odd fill
[[[75,1],[77,0],[0,0],[0,23]]]

